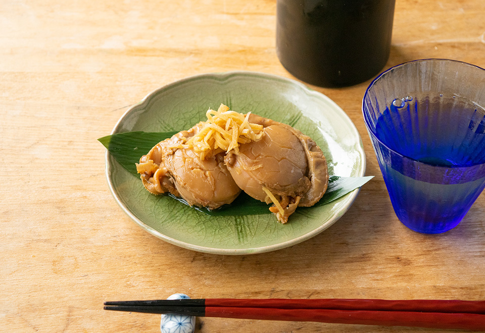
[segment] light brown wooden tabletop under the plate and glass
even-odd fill
[[[293,78],[275,52],[274,0],[0,2],[0,330],[158,332],[160,317],[105,300],[485,299],[485,195],[443,235],[396,218],[361,113],[369,82],[318,90],[350,116],[366,184],[340,220],[275,252],[222,256],[168,244],[120,209],[107,135],[130,105],[187,76],[232,70]],[[482,0],[396,1],[386,68],[420,58],[485,67]],[[198,318],[198,332],[437,332]]]

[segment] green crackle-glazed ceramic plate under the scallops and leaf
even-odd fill
[[[189,77],[147,95],[119,120],[112,134],[180,131],[206,120],[220,103],[294,126],[324,152],[330,175],[362,177],[365,154],[345,112],[325,95],[270,74],[213,73]],[[146,152],[143,152],[146,153]],[[352,205],[358,189],[326,205],[296,211],[287,224],[272,214],[209,216],[168,196],[151,195],[107,152],[110,189],[143,229],[183,248],[217,254],[273,251],[305,241],[330,227]]]

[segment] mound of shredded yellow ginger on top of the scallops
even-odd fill
[[[251,113],[239,114],[221,104],[217,111],[209,108],[207,121],[202,124],[197,134],[184,144],[173,148],[191,148],[204,160],[219,152],[239,151],[241,143],[258,141],[263,135],[263,125],[249,122]]]

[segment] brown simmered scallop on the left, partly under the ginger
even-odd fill
[[[231,203],[240,193],[218,153],[203,160],[193,149],[182,147],[202,123],[158,143],[140,158],[137,171],[144,187],[153,194],[170,192],[190,205],[209,209]]]

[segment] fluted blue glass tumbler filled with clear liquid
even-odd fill
[[[380,74],[362,109],[399,220],[420,233],[455,228],[485,188],[485,70],[446,59]]]

